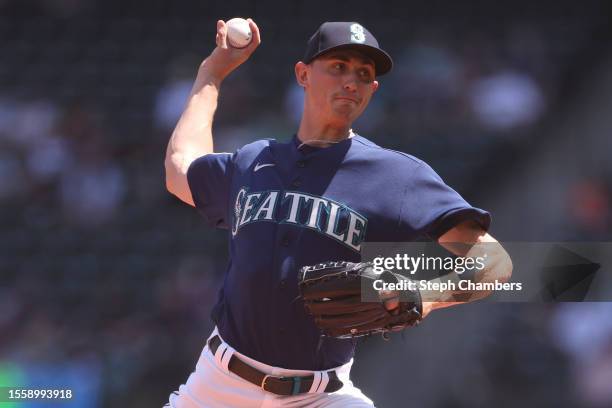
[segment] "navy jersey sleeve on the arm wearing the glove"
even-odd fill
[[[472,207],[427,164],[421,163],[412,174],[404,191],[400,210],[400,226],[413,236],[438,239],[457,224],[473,220],[484,230],[491,224],[491,215]]]

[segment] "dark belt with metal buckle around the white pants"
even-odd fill
[[[221,338],[217,335],[208,340],[208,348],[213,355],[221,345]],[[314,381],[314,375],[303,377],[277,377],[262,373],[255,367],[251,367],[237,356],[232,355],[227,368],[238,377],[241,377],[248,382],[261,387],[264,391],[271,392],[277,395],[297,395],[303,394],[310,390]],[[335,392],[342,388],[342,381],[338,379],[335,371],[328,371],[329,382],[322,392]]]

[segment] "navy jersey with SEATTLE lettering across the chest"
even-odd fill
[[[489,227],[423,161],[355,135],[327,148],[260,140],[209,154],[187,173],[197,209],[229,235],[229,264],[213,320],[239,352],[263,363],[324,370],[354,341],[324,338],[298,297],[297,272],[359,261],[364,241],[437,238],[466,220]]]

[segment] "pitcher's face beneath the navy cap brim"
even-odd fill
[[[304,69],[308,109],[338,125],[357,119],[378,88],[373,61],[352,50],[332,51]]]

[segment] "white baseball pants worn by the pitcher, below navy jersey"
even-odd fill
[[[218,335],[217,328],[210,337]],[[225,354],[223,351],[226,350]],[[221,356],[223,359],[221,360]],[[252,367],[275,376],[307,376],[315,375],[317,379],[311,391],[299,395],[276,395],[262,390],[257,385],[238,377],[228,371],[227,365],[232,355]],[[344,386],[334,393],[314,392],[325,389],[327,376],[322,371],[288,370],[269,366],[253,360],[232,349],[222,342],[213,355],[208,348],[208,342],[196,365],[196,369],[178,392],[170,394],[170,401],[165,407],[171,408],[275,408],[275,407],[316,407],[316,408],[372,408],[373,402],[363,395],[349,379],[353,360],[336,368],[338,378]]]

